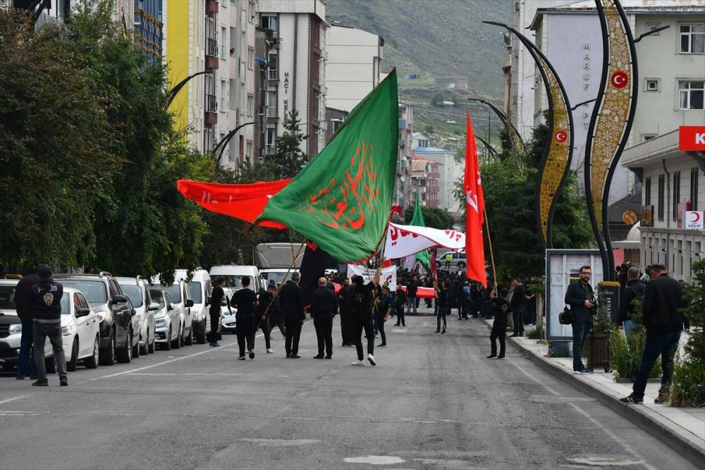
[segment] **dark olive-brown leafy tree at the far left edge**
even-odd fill
[[[94,210],[114,204],[109,97],[61,27],[35,31],[0,8],[0,266],[81,266],[97,246]]]

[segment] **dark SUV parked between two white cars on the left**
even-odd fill
[[[100,320],[100,364],[130,362],[140,328],[130,299],[110,274],[57,274],[65,288],[80,290]]]

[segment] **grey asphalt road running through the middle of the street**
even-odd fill
[[[223,346],[158,351],[79,368],[68,388],[0,378],[0,469],[678,469],[676,452],[512,350],[485,359],[489,331],[432,317],[387,323],[378,365],[333,359],[237,361]],[[377,341],[379,344],[379,340]]]

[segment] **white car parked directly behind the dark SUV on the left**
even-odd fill
[[[133,357],[140,357],[140,354],[154,352],[156,341],[156,325],[154,323],[154,312],[159,309],[159,304],[152,302],[149,294],[149,284],[147,280],[140,276],[136,278],[116,278],[125,295],[130,299],[130,303],[135,309],[137,317],[137,341],[133,344]]]

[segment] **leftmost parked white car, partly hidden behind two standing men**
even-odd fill
[[[11,369],[20,357],[22,321],[15,307],[15,287],[18,279],[0,279],[0,366]],[[56,372],[54,349],[49,338],[44,342],[44,358],[47,373]]]

